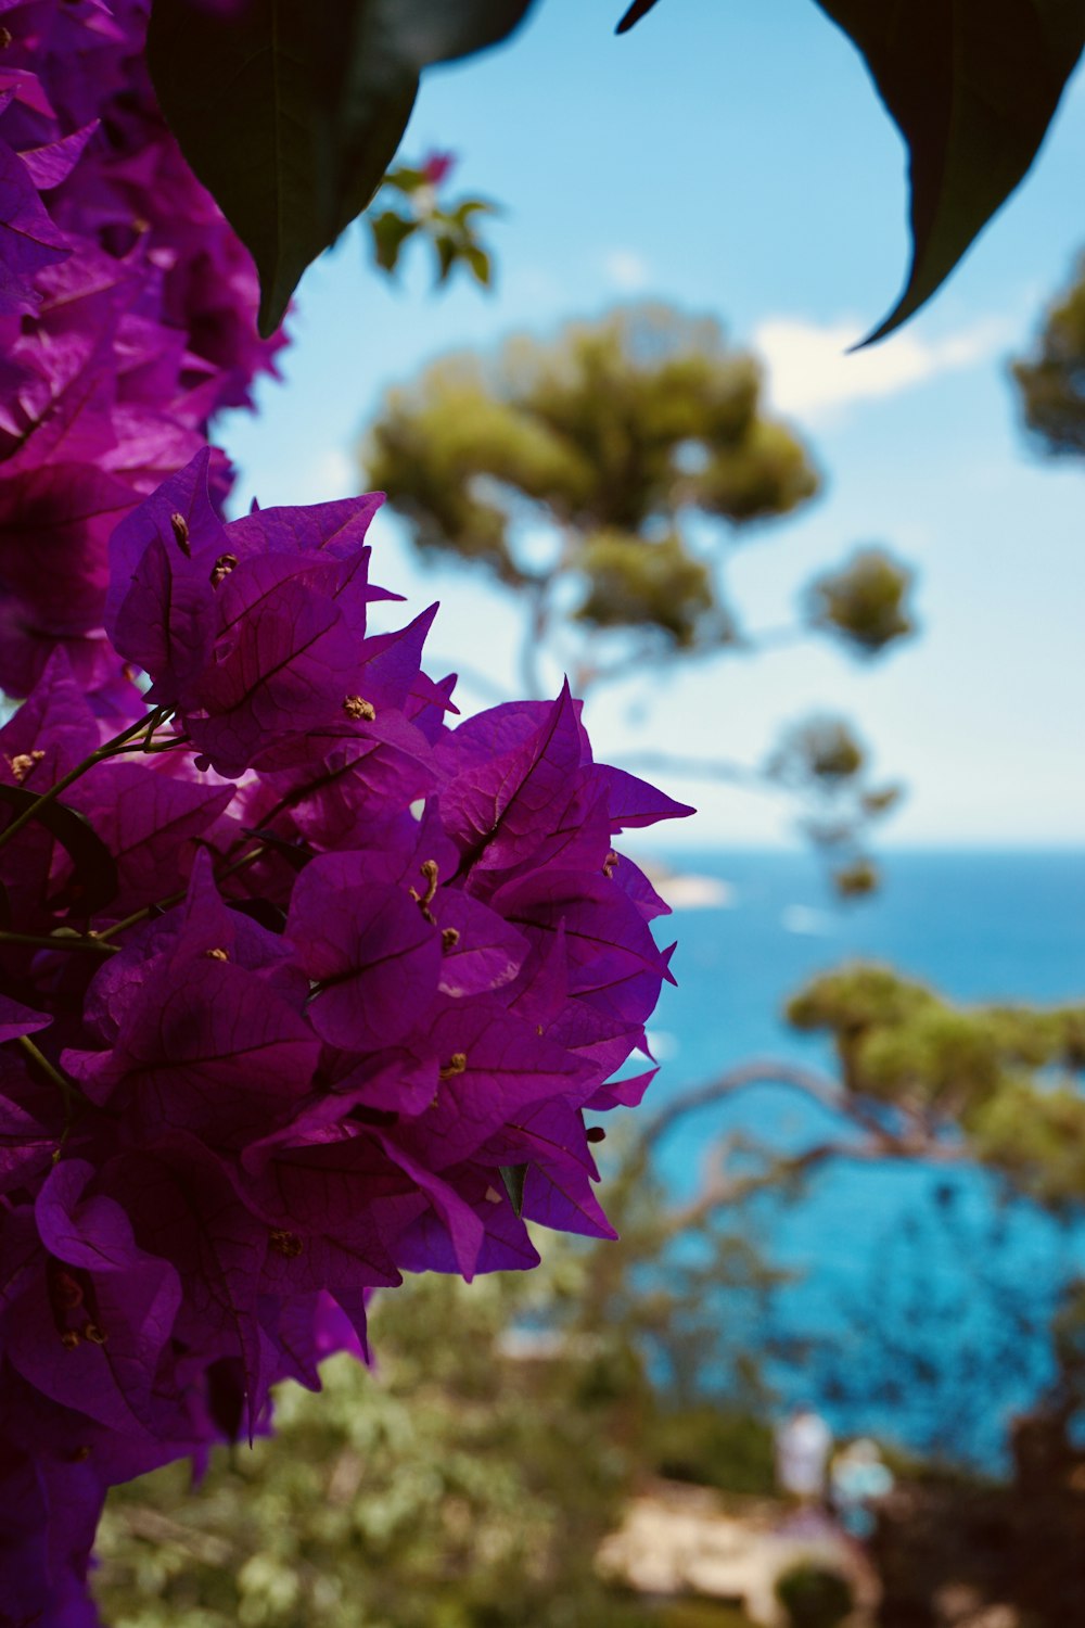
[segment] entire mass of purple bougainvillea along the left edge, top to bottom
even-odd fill
[[[0,18],[0,1628],[80,1628],[107,1488],[374,1288],[610,1236],[584,1112],[669,975],[612,838],[690,811],[568,690],[452,724],[433,612],[368,625],[379,498],[223,521],[272,350],[143,10]]]

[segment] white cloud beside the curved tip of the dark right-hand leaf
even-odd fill
[[[800,418],[839,417],[857,402],[896,396],[939,373],[973,366],[1007,344],[1002,321],[976,322],[945,339],[922,340],[911,329],[869,350],[848,353],[862,339],[856,322],[818,326],[802,317],[768,317],[753,345],[768,370],[768,397],[778,412]]]

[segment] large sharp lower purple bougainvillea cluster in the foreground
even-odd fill
[[[138,708],[57,650],[0,731],[0,1621],[80,1621],[106,1488],[265,1428],[373,1288],[608,1236],[584,1110],[651,1078],[612,837],[686,811],[568,690],[451,728],[431,612],[366,627],[376,500],[223,524],[208,466],[112,539]]]

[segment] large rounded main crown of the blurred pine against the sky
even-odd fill
[[[791,430],[765,417],[753,358],[667,306],[436,363],[387,394],[363,459],[421,549],[538,596],[568,584],[581,625],[672,651],[734,637],[690,521],[784,514],[818,484]],[[547,563],[522,545],[525,518],[550,527]]]

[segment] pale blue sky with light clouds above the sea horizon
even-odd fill
[[[403,151],[452,148],[452,190],[506,205],[490,231],[498,291],[433,296],[421,265],[390,288],[350,231],[301,285],[285,383],[262,386],[257,418],[220,430],[239,501],[356,490],[351,449],[381,392],[444,350],[631,298],[712,313],[763,357],[769,400],[826,477],[802,516],[735,550],[727,581],[747,624],[791,620],[812,571],[877,540],[919,570],[922,637],[874,664],[808,641],[600,694],[599,755],[665,744],[756,762],[781,724],[844,711],[909,786],[887,843],[1080,845],[1085,466],[1025,444],[1007,358],[1085,247],[1085,72],[1035,173],[934,304],[846,357],[908,256],[903,148],[859,57],[812,0],[660,0],[615,39],[620,11],[537,0],[509,46],[426,80]],[[514,692],[516,601],[415,563],[394,518],[373,537],[379,581],[442,601],[434,658]],[[769,799],[669,790],[701,807],[691,842],[794,840]]]

